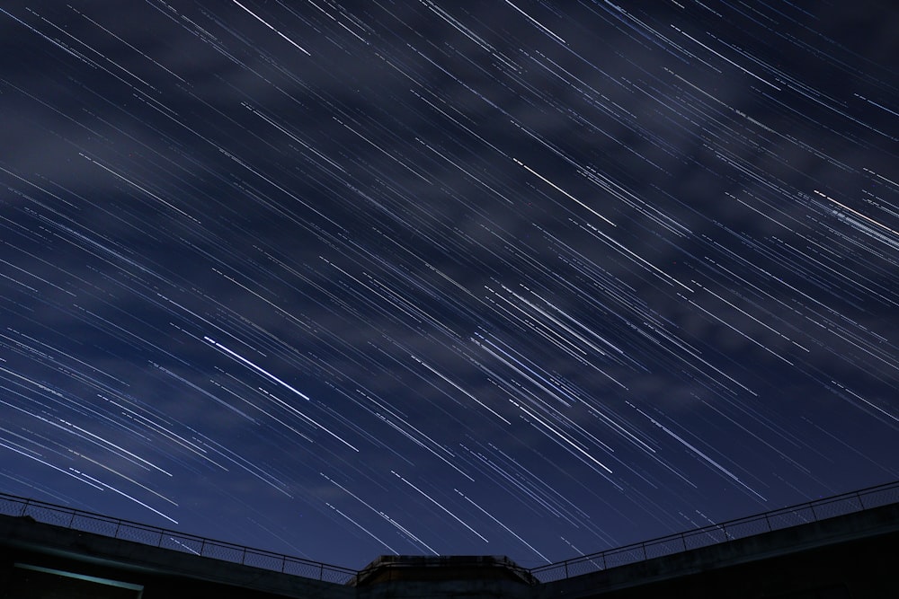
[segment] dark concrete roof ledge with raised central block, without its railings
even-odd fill
[[[893,504],[543,584],[502,556],[383,556],[342,585],[0,515],[0,595],[71,575],[139,587],[145,599],[882,597],[895,594],[897,548]]]

